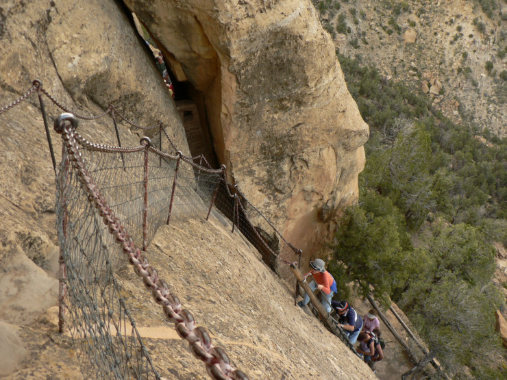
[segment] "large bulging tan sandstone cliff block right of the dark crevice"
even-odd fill
[[[358,197],[369,131],[310,1],[125,3],[205,97],[230,179],[313,251]]]

